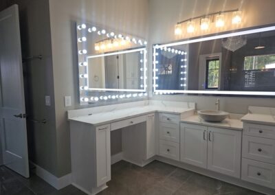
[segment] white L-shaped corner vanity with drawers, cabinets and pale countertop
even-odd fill
[[[68,111],[72,185],[87,194],[107,187],[110,133],[122,130],[122,155],[113,163],[123,159],[142,167],[157,159],[272,194],[275,120],[272,115],[261,118],[255,110],[261,108],[250,107],[245,116],[230,114],[222,122],[204,121],[195,104],[186,102],[140,101]]]

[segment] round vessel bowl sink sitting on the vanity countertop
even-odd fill
[[[197,113],[206,122],[221,122],[229,115],[224,111],[197,111]]]

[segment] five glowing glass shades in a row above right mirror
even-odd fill
[[[233,12],[232,14],[232,24],[237,25],[241,23],[241,11]],[[225,14],[217,14],[215,16],[215,26],[216,27],[223,27],[225,25]],[[200,19],[200,28],[201,30],[208,30],[210,27],[210,18],[209,17],[203,17]],[[190,21],[187,22],[186,32],[192,33],[195,32],[195,21],[190,19]],[[183,29],[181,23],[178,23],[175,25],[175,35],[182,34]]]

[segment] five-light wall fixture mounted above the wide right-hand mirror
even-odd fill
[[[225,10],[220,12],[213,12],[206,15],[201,15],[193,17],[184,21],[180,21],[175,25],[175,35],[181,35],[184,32],[184,27],[186,27],[186,32],[193,33],[198,28],[195,22],[199,20],[199,26],[202,31],[208,30],[210,28],[211,21],[215,23],[215,27],[220,28],[225,26],[225,14],[232,13],[232,25],[238,25],[241,23],[241,11],[236,10]],[[186,23],[186,25],[183,25]]]

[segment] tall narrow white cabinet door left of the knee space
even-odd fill
[[[96,127],[96,186],[97,187],[111,180],[110,142],[111,142],[110,125],[107,124],[107,125]]]

